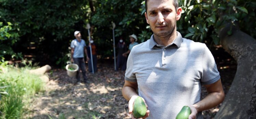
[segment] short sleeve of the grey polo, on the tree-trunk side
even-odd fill
[[[207,85],[218,81],[220,79],[220,75],[212,53],[206,45],[204,45],[204,47],[204,55],[202,58],[203,74],[201,82],[202,84]]]

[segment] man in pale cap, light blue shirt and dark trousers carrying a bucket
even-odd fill
[[[85,58],[84,54],[86,54],[86,60],[89,61],[89,57],[86,50],[85,40],[81,39],[80,31],[75,31],[74,36],[76,39],[71,41],[71,62],[77,64],[79,66],[79,70],[82,71],[82,75],[84,78],[84,82],[87,83],[87,77],[85,73]],[[79,70],[76,74],[77,83],[80,83]]]

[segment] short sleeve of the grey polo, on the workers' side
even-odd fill
[[[137,82],[136,75],[134,73],[134,66],[133,66],[133,52],[131,52],[127,59],[127,66],[125,71],[125,80],[130,82]]]

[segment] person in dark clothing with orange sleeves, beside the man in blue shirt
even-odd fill
[[[90,53],[90,47],[92,48],[92,58]],[[91,39],[91,42],[89,43],[89,47],[87,47],[88,56],[90,57],[88,61],[88,69],[89,72],[92,72],[92,64],[91,59],[93,62],[93,71],[96,72],[98,70],[97,68],[97,53],[96,53],[96,45],[94,44],[94,41]]]

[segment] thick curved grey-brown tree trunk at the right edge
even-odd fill
[[[238,66],[232,85],[215,119],[256,119],[256,40],[230,25],[220,31],[223,48]]]

